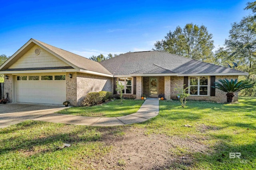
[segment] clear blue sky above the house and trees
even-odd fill
[[[148,51],[186,23],[205,25],[223,46],[231,23],[250,14],[248,0],[70,1],[1,0],[0,54],[13,55],[30,38],[72,53]]]

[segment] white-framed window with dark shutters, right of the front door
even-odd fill
[[[208,76],[190,77],[189,83],[191,95],[208,95]]]

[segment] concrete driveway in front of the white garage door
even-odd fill
[[[0,104],[0,128],[7,127],[28,119],[35,119],[65,109],[64,105],[56,104]]]

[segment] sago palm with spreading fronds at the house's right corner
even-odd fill
[[[249,82],[246,81],[238,81],[231,79],[230,81],[228,79],[218,80],[219,82],[215,82],[215,87],[212,86],[212,88],[218,88],[222,90],[223,92],[227,92],[227,102],[231,103],[233,101],[233,98],[235,96],[235,92],[239,92],[240,90],[243,90],[245,88],[251,88],[252,85],[249,84]]]

